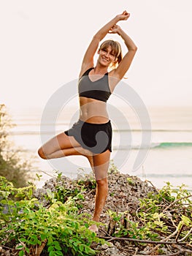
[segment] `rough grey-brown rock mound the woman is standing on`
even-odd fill
[[[80,213],[93,214],[95,203],[95,181],[93,174],[82,175],[82,180],[68,178],[61,176],[60,178],[51,178],[45,182],[45,185],[41,189],[37,189],[34,192],[34,196],[38,198],[44,206],[49,206],[49,200],[47,200],[47,191],[57,192],[58,189],[67,189],[69,192],[74,189],[80,189],[85,187],[85,191],[82,192],[85,200],[80,200],[82,208]],[[149,192],[156,193],[156,189],[147,181],[142,181],[137,176],[129,176],[119,172],[110,173],[108,175],[108,187],[109,192],[107,201],[105,203],[103,213],[101,216],[102,222],[108,222],[107,211],[110,209],[115,212],[128,211],[129,214],[134,215],[139,207],[139,199],[147,197]],[[107,219],[108,218],[108,219]],[[131,219],[130,219],[131,220]]]

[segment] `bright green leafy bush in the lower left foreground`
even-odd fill
[[[75,197],[65,203],[52,200],[50,208],[45,208],[31,194],[31,187],[15,188],[4,177],[0,179],[0,237],[1,245],[18,244],[19,256],[29,255],[34,246],[47,243],[47,252],[52,255],[95,255],[91,249],[94,242],[104,244],[104,240],[88,230],[93,222],[77,214]],[[23,198],[15,200],[16,197]]]

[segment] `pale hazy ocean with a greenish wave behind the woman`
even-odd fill
[[[192,107],[148,107],[150,124],[142,124],[145,116],[141,118],[137,110],[127,106],[120,106],[119,110],[110,113],[111,159],[118,170],[147,179],[158,188],[169,181],[174,187],[185,184],[192,191]],[[37,187],[56,176],[56,171],[70,178],[76,178],[77,173],[90,172],[85,157],[72,156],[48,162],[37,155],[42,141],[69,129],[77,118],[77,107],[63,109],[56,122],[49,113],[46,121],[42,120],[42,113],[43,110],[37,108],[15,111],[12,122],[16,127],[10,133],[10,140],[20,147],[26,159],[33,159],[31,173],[42,176],[41,181],[35,181]]]

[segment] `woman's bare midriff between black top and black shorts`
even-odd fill
[[[107,123],[109,116],[106,102],[80,97],[80,120],[91,124]]]

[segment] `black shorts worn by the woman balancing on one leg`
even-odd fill
[[[68,136],[73,136],[82,148],[94,154],[101,154],[107,149],[112,151],[112,126],[108,121],[105,124],[91,124],[82,120],[74,123],[71,129],[65,131]]]

